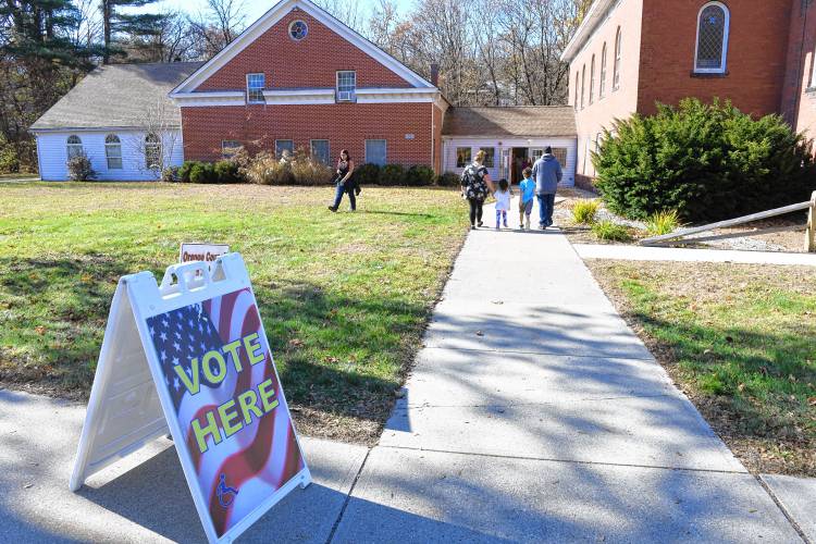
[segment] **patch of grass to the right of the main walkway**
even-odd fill
[[[590,264],[750,469],[816,475],[816,269]]]

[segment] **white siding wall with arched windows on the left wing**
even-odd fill
[[[75,131],[47,132],[37,134],[37,150],[39,156],[40,177],[49,182],[67,180],[67,148],[65,143],[72,134],[79,136],[83,149],[90,159],[101,181],[153,181],[156,175],[145,168],[145,157],[139,147],[145,133],[137,131]],[[122,143],[122,169],[108,170],[108,159],[104,154],[104,138],[115,134]],[[168,134],[164,140],[164,157],[168,164],[180,166],[184,162],[182,133],[175,131]]]

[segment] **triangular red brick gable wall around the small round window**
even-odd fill
[[[309,26],[301,41],[289,23]],[[338,70],[356,70],[358,87],[411,87],[400,76],[302,11],[294,11],[259,36],[196,90],[243,90],[246,74],[264,73],[267,88],[334,87]]]

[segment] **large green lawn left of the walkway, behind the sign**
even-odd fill
[[[378,435],[466,234],[456,191],[0,183],[0,382],[84,397],[121,275],[240,251],[302,432]],[[345,205],[344,205],[345,207]]]

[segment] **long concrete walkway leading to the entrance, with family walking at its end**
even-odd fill
[[[468,237],[333,542],[397,540],[802,542],[566,237],[492,228]]]

